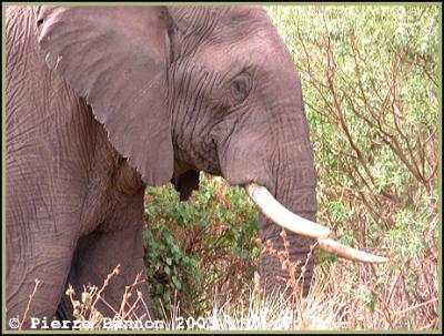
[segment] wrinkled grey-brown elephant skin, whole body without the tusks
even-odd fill
[[[186,200],[205,171],[315,217],[300,78],[260,8],[8,8],[6,124],[8,318],[36,278],[29,316],[69,318],[67,283],[101,285],[118,263],[119,307],[143,269],[147,184]],[[259,225],[282,250],[281,228]],[[287,236],[305,263],[313,241]],[[270,255],[260,273],[268,291],[289,277]]]

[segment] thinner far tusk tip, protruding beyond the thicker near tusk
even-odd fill
[[[370,253],[365,253],[345,245],[337,243],[333,240],[317,240],[317,247],[324,250],[325,252],[335,254],[345,259],[354,261],[354,262],[363,262],[370,264],[381,264],[386,263],[389,259],[383,256],[373,255]]]

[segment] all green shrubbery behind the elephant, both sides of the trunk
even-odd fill
[[[390,258],[370,266],[316,251],[312,292],[291,327],[437,329],[442,6],[266,10],[303,83],[317,221],[340,242]],[[228,315],[263,305],[258,213],[243,190],[206,174],[189,202],[172,186],[148,187],[145,218],[159,315],[219,312],[232,327]]]

